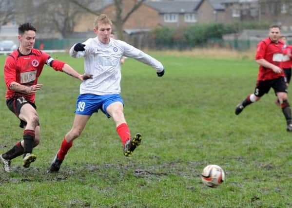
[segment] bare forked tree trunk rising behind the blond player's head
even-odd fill
[[[84,2],[80,3],[78,0],[70,0],[71,2],[78,5],[80,8],[84,9],[85,11],[94,14],[94,15],[100,15],[99,11],[93,11],[91,8],[86,6]],[[129,19],[129,17],[135,12],[145,0],[132,0],[133,1],[133,7],[130,9],[130,11],[126,14],[123,14],[123,1],[125,0],[114,0],[115,8],[116,8],[116,14],[115,19],[112,19],[113,24],[115,25],[115,28],[117,30],[117,37],[119,39],[123,38],[123,29],[125,22]]]

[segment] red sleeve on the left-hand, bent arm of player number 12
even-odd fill
[[[11,82],[16,82],[16,61],[10,55],[5,60],[4,79],[7,89],[9,89]]]

